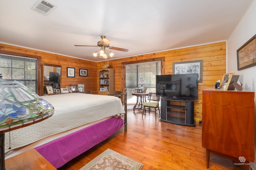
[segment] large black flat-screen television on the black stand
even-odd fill
[[[174,99],[198,99],[198,74],[157,75],[156,95]]]

